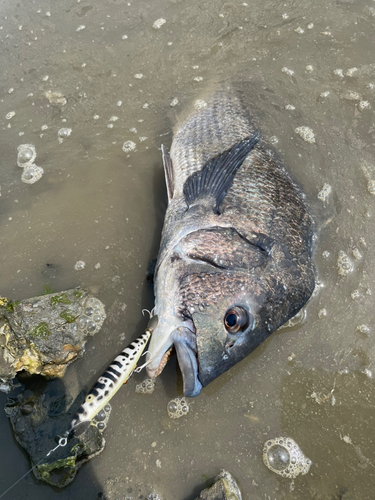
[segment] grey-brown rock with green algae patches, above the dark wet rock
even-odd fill
[[[102,327],[104,305],[83,288],[22,301],[0,299],[0,390],[17,372],[62,377]]]

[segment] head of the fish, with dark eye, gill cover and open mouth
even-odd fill
[[[299,294],[299,277],[288,259],[276,261],[233,232],[216,231],[215,238],[216,246],[202,255],[189,252],[186,243],[184,258],[166,264],[165,274],[162,266],[157,278],[159,322],[147,371],[158,375],[174,346],[186,396],[199,394],[250,354],[308,298]],[[219,252],[223,239],[228,244]]]

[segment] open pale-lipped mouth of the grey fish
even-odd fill
[[[148,376],[154,378],[160,375],[172,354],[173,347],[182,373],[184,395],[198,396],[202,384],[198,378],[197,340],[195,334],[187,327],[180,326],[173,330],[168,338],[168,344],[155,356],[151,356],[146,368]]]

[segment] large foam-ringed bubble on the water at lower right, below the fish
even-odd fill
[[[272,472],[291,479],[307,474],[312,464],[293,439],[284,437],[265,443],[263,462]]]

